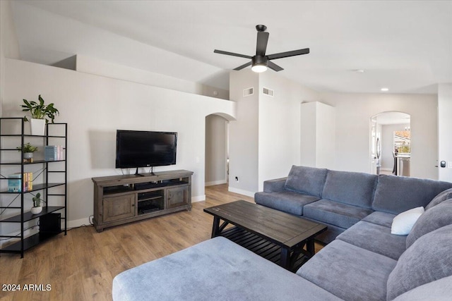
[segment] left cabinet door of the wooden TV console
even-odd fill
[[[135,194],[104,197],[103,203],[104,223],[135,216]]]

